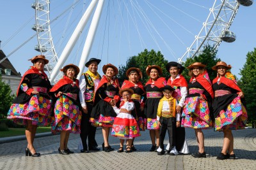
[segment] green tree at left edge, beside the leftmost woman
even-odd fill
[[[7,115],[14,99],[14,95],[11,95],[11,93],[12,89],[2,81],[2,76],[0,76],[0,114],[4,116]]]

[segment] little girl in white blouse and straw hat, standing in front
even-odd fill
[[[140,128],[137,124],[135,104],[131,99],[134,91],[132,89],[122,89],[119,91],[123,100],[120,108],[113,106],[117,116],[113,123],[112,136],[120,138],[120,148],[117,152],[124,152],[124,140],[127,139],[126,153],[132,152],[132,140],[140,136]],[[133,113],[132,113],[133,112]]]

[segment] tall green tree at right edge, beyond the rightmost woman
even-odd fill
[[[256,48],[253,52],[248,52],[246,55],[246,62],[243,69],[239,73],[242,77],[238,81],[241,90],[244,92],[246,101],[246,110],[248,112],[249,120],[256,120]]]

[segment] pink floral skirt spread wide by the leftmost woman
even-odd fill
[[[47,126],[51,124],[51,102],[50,99],[34,95],[27,103],[13,103],[7,118],[20,125],[27,125],[28,120],[32,120],[32,125]]]

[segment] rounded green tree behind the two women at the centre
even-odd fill
[[[161,52],[156,52],[155,50],[148,51],[145,49],[143,52],[138,53],[136,56],[129,57],[126,62],[126,66],[119,66],[118,79],[120,83],[127,80],[125,73],[130,67],[138,67],[143,73],[141,83],[145,84],[148,81],[148,75],[146,73],[146,68],[148,65],[157,65],[163,69],[163,76],[168,76],[168,72],[165,69],[168,60],[164,59]]]

